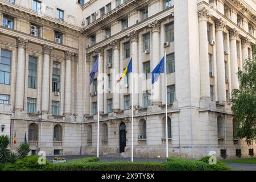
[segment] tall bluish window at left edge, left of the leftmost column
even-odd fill
[[[11,51],[1,49],[0,84],[10,84]]]

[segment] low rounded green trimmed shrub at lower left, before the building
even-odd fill
[[[17,160],[14,164],[7,164],[3,171],[51,171],[52,163],[46,160],[45,165],[38,163],[39,156],[30,155],[23,159]]]

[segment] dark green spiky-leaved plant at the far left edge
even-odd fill
[[[9,162],[11,150],[8,147],[10,142],[8,135],[0,136],[0,163]]]

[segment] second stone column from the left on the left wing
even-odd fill
[[[52,47],[43,46],[42,114],[49,113],[50,54]]]

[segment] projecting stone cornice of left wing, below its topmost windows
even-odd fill
[[[26,19],[28,22],[35,23],[44,27],[49,27],[60,32],[65,32],[66,34],[72,34],[76,36],[77,34],[81,34],[80,27],[72,26],[67,22],[59,22],[56,19],[39,15],[28,9],[23,10],[21,7],[10,4],[9,2],[0,2],[0,12],[14,16],[15,18]]]

